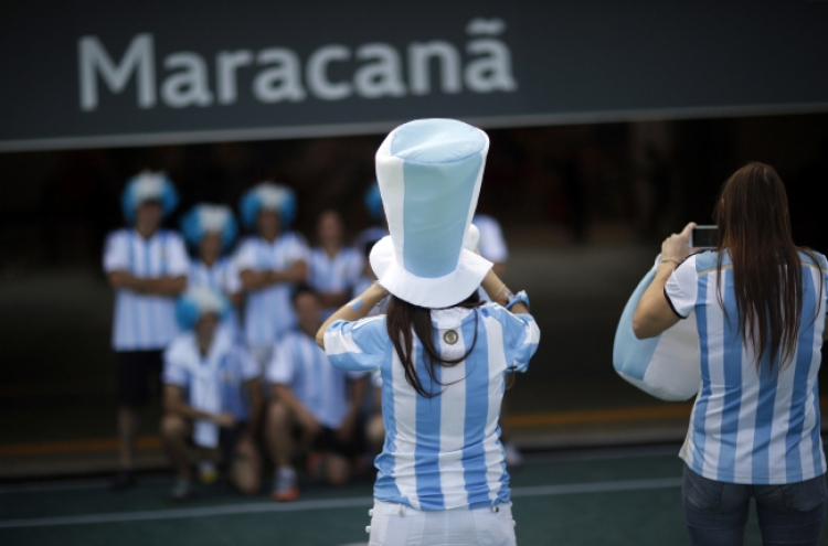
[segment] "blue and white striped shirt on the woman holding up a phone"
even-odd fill
[[[817,255],[817,265],[800,254],[803,311],[793,361],[779,370],[776,355],[772,368],[765,354],[760,373],[752,346],[744,345],[739,332],[726,254],[721,272],[726,317],[719,304],[716,256],[714,251],[690,256],[665,287],[679,317],[694,311],[699,330],[701,388],[680,457],[698,474],[729,483],[784,484],[822,475],[817,373],[828,282],[825,257]]]

